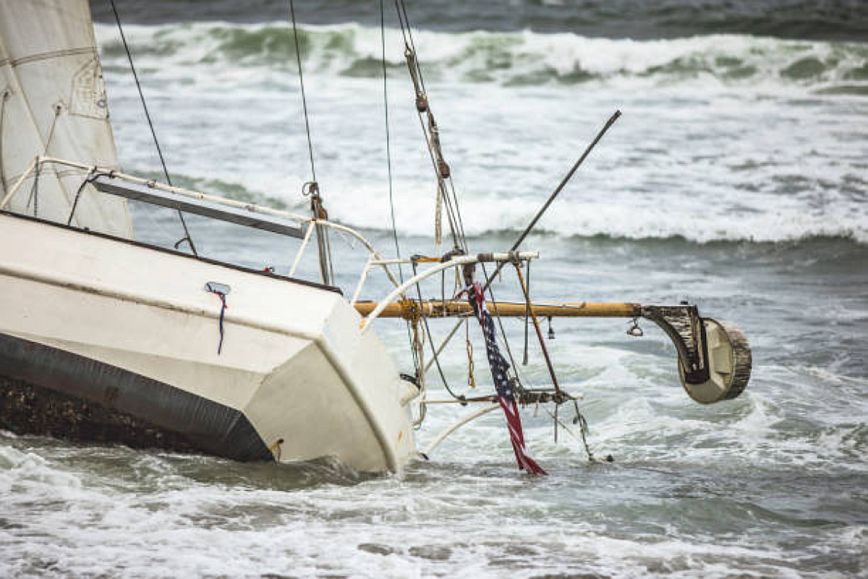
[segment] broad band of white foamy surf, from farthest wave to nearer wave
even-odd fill
[[[142,170],[155,158],[113,34],[98,26],[113,112],[122,113],[114,126],[122,156]],[[298,192],[310,177],[297,79],[284,54],[288,34],[274,25],[130,27],[157,128],[168,133],[173,172],[303,207]],[[386,229],[378,31],[305,27],[305,38],[312,136],[330,214]],[[868,242],[868,102],[817,94],[838,82],[862,82],[863,45],[749,36],[640,42],[528,31],[422,31],[417,41],[471,235],[521,230],[575,151],[618,107],[624,118],[542,229],[697,242]],[[394,52],[398,67],[401,51]],[[359,75],[348,76],[353,63],[367,61],[370,70],[359,65]],[[561,82],[579,70],[592,85]],[[393,76],[398,227],[427,235],[434,223],[430,161],[409,83],[400,68]],[[226,114],[209,116],[214,108]]]

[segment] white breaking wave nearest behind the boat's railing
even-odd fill
[[[238,183],[219,179],[176,176],[197,190],[241,201],[262,203],[306,214],[306,201],[266,196]],[[263,190],[272,190],[267,185]],[[277,187],[274,189],[282,189]],[[434,202],[430,188],[419,186],[396,199],[398,230],[407,236],[430,236],[434,228]],[[285,190],[285,189],[284,189]],[[539,209],[542,199],[503,198],[481,194],[460,196],[466,233],[471,237],[520,233]],[[369,231],[386,231],[388,199],[380,184],[330,181],[328,198],[331,217]],[[774,202],[774,200],[769,200]],[[825,243],[842,241],[868,245],[868,220],[852,204],[832,204],[811,215],[801,205],[779,206],[767,211],[737,211],[730,206],[694,211],[660,205],[629,194],[604,201],[558,199],[539,226],[538,234],[599,241],[646,241],[710,243]],[[628,209],[629,208],[629,209]]]

